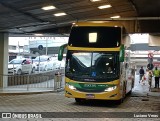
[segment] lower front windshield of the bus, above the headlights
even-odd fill
[[[118,59],[118,52],[68,51],[66,77],[75,81],[113,81],[119,76]]]

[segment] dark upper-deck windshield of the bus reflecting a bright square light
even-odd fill
[[[119,47],[121,42],[120,27],[72,27],[69,46],[111,48]]]

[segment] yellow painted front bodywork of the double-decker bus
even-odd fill
[[[117,22],[106,22],[106,21],[89,21],[89,22],[77,22],[73,24],[72,26],[110,26],[110,27],[123,27],[121,24]],[[106,43],[104,43],[106,44]],[[89,47],[73,47],[72,45],[67,46],[67,50],[77,50],[77,51],[97,51],[97,52],[103,52],[103,51],[120,51],[120,47],[115,48],[89,48]],[[70,80],[69,78],[65,77],[65,82],[73,82],[73,83],[88,83],[88,84],[112,84],[116,85],[117,88],[113,91],[109,92],[82,92],[78,90],[70,89],[67,85],[65,86],[65,96],[69,98],[82,98],[82,99],[100,99],[100,100],[119,100],[122,98],[122,87],[120,87],[120,80],[113,80],[112,82],[102,82],[102,83],[96,83],[96,82],[79,82]],[[86,94],[93,94],[94,98],[86,98]]]

